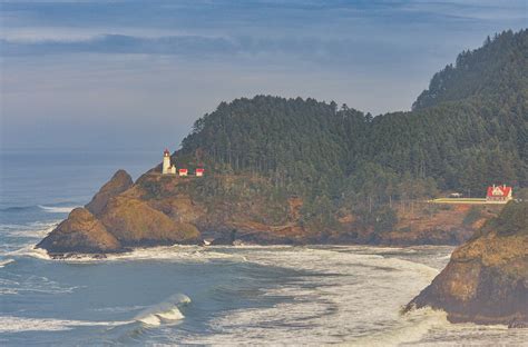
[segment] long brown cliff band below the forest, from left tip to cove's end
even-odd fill
[[[135,246],[202,244],[458,245],[497,207],[399,204],[398,224],[388,231],[360,221],[351,211],[309,220],[300,197],[274,196],[258,176],[180,178],[157,169],[135,184],[123,170],[85,207],[71,211],[37,247],[52,255],[105,254]],[[468,218],[471,217],[471,218]]]

